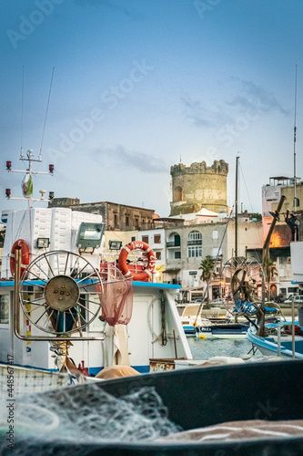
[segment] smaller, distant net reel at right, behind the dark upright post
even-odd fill
[[[255,258],[233,257],[223,267],[223,281],[229,288],[236,316],[253,316],[262,305],[257,286],[262,282],[263,270]]]

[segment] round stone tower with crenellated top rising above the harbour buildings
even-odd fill
[[[179,163],[170,168],[172,199],[170,216],[198,212],[227,210],[228,164],[215,160],[211,166],[205,161],[192,163],[189,168]]]

